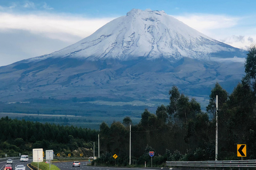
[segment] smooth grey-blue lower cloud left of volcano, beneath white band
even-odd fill
[[[0,66],[49,54],[70,45],[61,40],[34,35],[26,30],[0,32],[0,37]]]

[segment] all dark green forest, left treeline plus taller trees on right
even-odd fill
[[[131,124],[131,155],[133,165],[150,162],[149,151],[154,151],[153,164],[163,165],[166,160],[215,160],[215,125],[218,113],[218,160],[237,160],[237,144],[247,145],[247,157],[256,159],[256,47],[247,53],[245,76],[231,94],[217,82],[211,90],[206,113],[201,111],[196,99],[180,94],[173,86],[170,104],[161,105],[156,113],[145,109],[141,120],[133,124],[130,117],[123,122],[114,121],[110,126],[102,122],[99,130],[30,122],[2,117],[0,120],[0,156],[31,156],[33,148],[52,149],[65,157],[69,153],[79,157],[98,157],[98,165],[129,164],[129,138]],[[218,112],[215,97],[218,95]],[[209,115],[213,118],[209,118]],[[113,155],[118,157],[115,160]]]

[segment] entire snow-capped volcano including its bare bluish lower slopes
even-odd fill
[[[133,9],[57,52],[0,67],[0,100],[76,97],[147,105],[167,101],[172,86],[209,98],[216,82],[233,90],[245,56],[163,11]]]

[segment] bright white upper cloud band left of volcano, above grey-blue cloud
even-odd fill
[[[10,31],[11,29],[27,30],[35,35],[40,34],[51,39],[74,43],[72,37],[85,38],[113,19],[86,19],[51,13],[0,13],[0,32]],[[63,36],[63,34],[70,36]]]

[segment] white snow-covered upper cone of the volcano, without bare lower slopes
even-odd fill
[[[235,48],[196,31],[164,11],[133,9],[95,31],[91,36],[45,57],[89,60],[134,57],[208,59],[213,53]],[[233,56],[232,56],[233,57]]]

